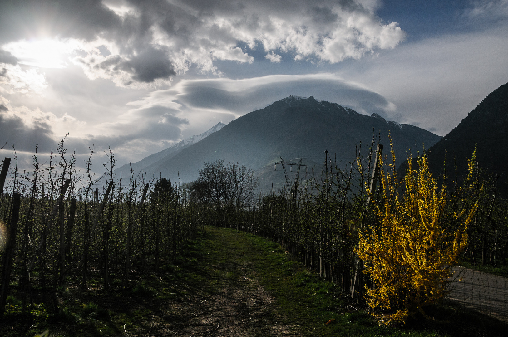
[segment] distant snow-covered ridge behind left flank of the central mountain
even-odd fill
[[[161,159],[169,159],[169,158],[173,157],[174,155],[179,153],[184,148],[186,148],[186,147],[188,147],[190,145],[198,143],[202,139],[210,136],[210,134],[220,130],[224,126],[226,126],[226,124],[219,122],[219,123],[215,124],[213,127],[211,127],[210,129],[206,130],[205,132],[203,132],[201,134],[198,134],[197,136],[190,136],[189,138],[184,139],[183,141],[180,141],[180,142],[176,143],[175,145],[173,145],[173,146],[171,146],[171,147],[169,147],[169,148],[167,148],[165,150],[162,150],[162,151],[157,152],[157,153],[150,154],[148,157],[145,157],[145,158],[141,159],[140,161],[134,162],[132,164],[125,164],[125,165],[117,168],[115,171],[117,171],[117,172],[119,172],[119,171],[130,172],[131,171],[131,165],[132,165],[132,169],[134,171],[145,171],[145,172],[147,172],[147,168],[150,165],[156,163],[157,161],[159,161]]]

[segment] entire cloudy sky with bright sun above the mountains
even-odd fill
[[[440,136],[508,82],[508,0],[0,2],[0,156],[135,162],[283,97]],[[99,168],[99,167],[97,167]]]

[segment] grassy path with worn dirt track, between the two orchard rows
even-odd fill
[[[321,282],[273,242],[208,227],[200,246],[195,272],[184,277],[186,296],[168,310],[173,335],[421,335],[379,327],[346,307],[333,284]]]

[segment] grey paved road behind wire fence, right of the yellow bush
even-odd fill
[[[508,279],[455,267],[449,298],[461,305],[508,322]]]

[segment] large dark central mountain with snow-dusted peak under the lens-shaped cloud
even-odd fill
[[[280,169],[273,170],[273,163],[280,156],[286,161],[305,158],[302,162],[310,167],[317,165],[320,170],[325,158],[323,152],[328,150],[332,158],[336,154],[339,165],[345,166],[355,159],[356,145],[362,143],[363,153],[368,151],[374,131],[380,132],[388,151],[388,132],[391,132],[398,163],[405,159],[407,148],[414,148],[415,144],[419,149],[423,144],[428,148],[441,138],[414,125],[386,121],[377,114],[362,115],[312,96],[291,95],[245,114],[201,142],[157,161],[147,173],[154,172],[156,176],[161,173],[171,181],[176,181],[178,175],[183,182],[192,181],[197,179],[203,162],[224,159],[263,173],[262,187],[266,189],[271,188],[272,180],[279,183],[284,180]]]

